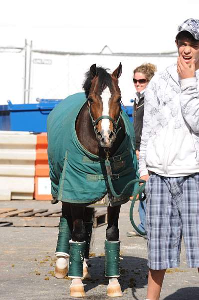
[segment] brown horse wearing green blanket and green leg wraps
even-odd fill
[[[55,275],[63,278],[68,272],[72,279],[70,295],[76,297],[85,296],[82,277],[90,277],[87,261],[93,208],[89,204],[105,195],[109,198],[105,240],[107,295],[122,296],[118,281],[118,219],[121,204],[135,194],[139,181],[135,134],[121,108],[118,78],[122,64],[112,73],[108,70],[91,65],[85,74],[84,93],[62,100],[47,120],[52,203],[62,201]]]

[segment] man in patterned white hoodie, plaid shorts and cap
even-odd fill
[[[158,300],[167,268],[199,271],[199,20],[178,27],[177,64],[145,93],[140,178],[147,181],[148,300]]]

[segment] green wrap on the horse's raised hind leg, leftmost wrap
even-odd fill
[[[61,216],[59,221],[59,234],[57,239],[56,252],[64,252],[69,254],[70,246],[69,240],[71,239],[71,229],[66,217]]]

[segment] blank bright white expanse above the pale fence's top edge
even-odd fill
[[[1,0],[0,46],[100,52],[175,51],[177,27],[199,0]]]

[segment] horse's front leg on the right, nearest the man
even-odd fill
[[[105,240],[105,276],[109,278],[107,295],[122,296],[118,277],[120,276],[120,240],[118,219],[121,205],[108,207],[108,226]]]

